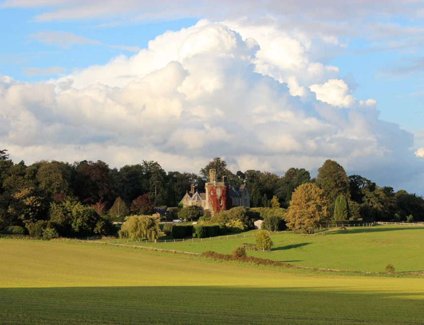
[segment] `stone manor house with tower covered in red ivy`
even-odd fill
[[[210,210],[212,215],[234,206],[250,207],[246,184],[235,185],[234,180],[227,181],[227,176],[223,176],[222,182],[218,182],[216,169],[209,170],[209,182],[205,184],[205,189],[206,193],[199,193],[194,184],[191,184],[190,192],[187,191],[182,198],[183,206],[197,205],[203,210]]]

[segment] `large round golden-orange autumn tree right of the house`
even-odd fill
[[[291,197],[285,218],[289,229],[312,233],[328,217],[328,202],[324,192],[315,184],[300,185]]]

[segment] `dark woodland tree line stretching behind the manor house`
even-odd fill
[[[110,225],[101,218],[106,213],[116,217],[149,215],[154,206],[177,206],[191,183],[204,191],[210,168],[217,170],[218,178],[226,175],[236,184],[245,183],[251,207],[271,207],[275,197],[282,208],[289,208],[295,189],[314,184],[326,197],[330,218],[424,221],[422,196],[379,187],[360,175],[347,176],[344,168],[331,160],[324,162],[314,179],[308,170],[297,167],[289,168],[283,176],[259,170],[234,174],[220,158],[209,162],[199,174],[166,172],[153,161],[119,169],[102,161],[26,165],[12,162],[7,150],[1,150],[0,229],[31,228],[38,223],[40,232],[48,223],[60,235],[107,233]]]

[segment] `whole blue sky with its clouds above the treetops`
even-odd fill
[[[0,0],[0,149],[424,195],[424,3]]]

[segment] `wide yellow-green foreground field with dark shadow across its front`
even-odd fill
[[[71,241],[1,239],[0,260],[2,324],[420,324],[424,318],[420,277],[298,272]]]

